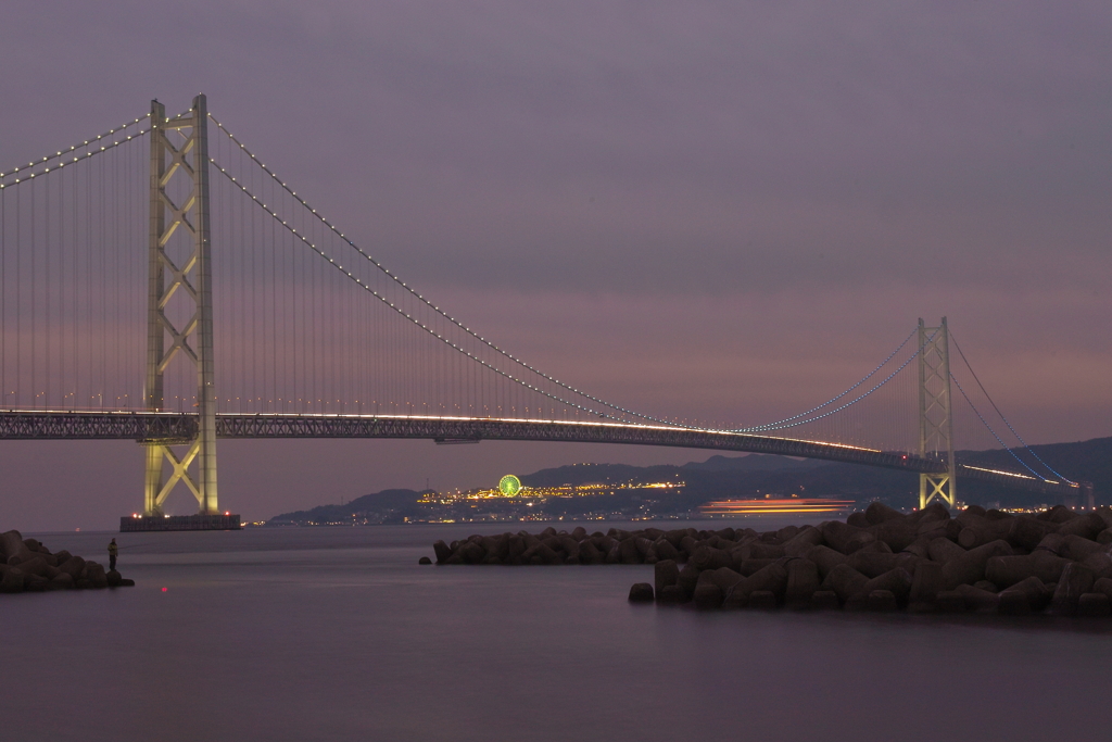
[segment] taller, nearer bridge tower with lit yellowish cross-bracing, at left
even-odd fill
[[[212,268],[209,234],[208,106],[203,95],[172,119],[150,107],[150,233],[147,301],[147,375],[143,405],[166,404],[163,375],[177,360],[196,369],[197,432],[191,439],[147,441],[145,513],[161,513],[183,484],[202,515],[218,513],[216,393],[212,366]],[[190,343],[190,340],[192,343]],[[167,347],[168,346],[168,347]],[[171,446],[179,446],[175,452]],[[197,462],[196,475],[189,467]],[[171,472],[163,477],[165,464]]]

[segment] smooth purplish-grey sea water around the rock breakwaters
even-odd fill
[[[0,738],[1109,739],[1112,622],[704,614],[629,605],[647,566],[417,564],[502,530],[117,535],[136,587],[0,595]]]

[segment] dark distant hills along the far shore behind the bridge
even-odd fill
[[[1074,481],[1094,485],[1100,503],[1112,501],[1112,437],[1079,443],[1032,446],[1050,466]],[[959,452],[959,461],[1014,468],[1015,459],[1006,451]],[[555,487],[585,484],[684,483],[678,489],[655,491],[653,512],[658,515],[683,514],[709,499],[758,497],[762,495],[801,495],[870,502],[883,499],[896,507],[917,504],[919,476],[909,472],[882,469],[857,464],[797,461],[784,456],[711,456],[704,462],[683,466],[629,466],[626,464],[575,464],[542,469],[519,477],[527,487]],[[575,516],[592,512],[620,512],[635,507],[646,497],[645,489],[615,489],[614,494],[590,497],[556,497],[544,512]],[[387,489],[364,495],[345,505],[321,505],[308,511],[282,513],[269,521],[272,525],[326,523],[403,523],[408,517],[427,517],[427,508],[417,504],[420,493]],[[962,481],[959,497],[971,504],[1000,503],[1004,506],[1031,506],[1046,497],[981,482]]]

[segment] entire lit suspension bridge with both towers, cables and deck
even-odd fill
[[[137,442],[149,516],[177,488],[200,514],[219,513],[221,438],[781,454],[917,473],[921,507],[953,506],[961,479],[1054,498],[1083,488],[1020,438],[945,318],[921,319],[862,379],[780,421],[708,424],[605,402],[389,271],[205,96],[172,116],[152,101],[0,172],[0,439]],[[959,436],[970,449],[1006,449],[1014,465],[963,459]]]

